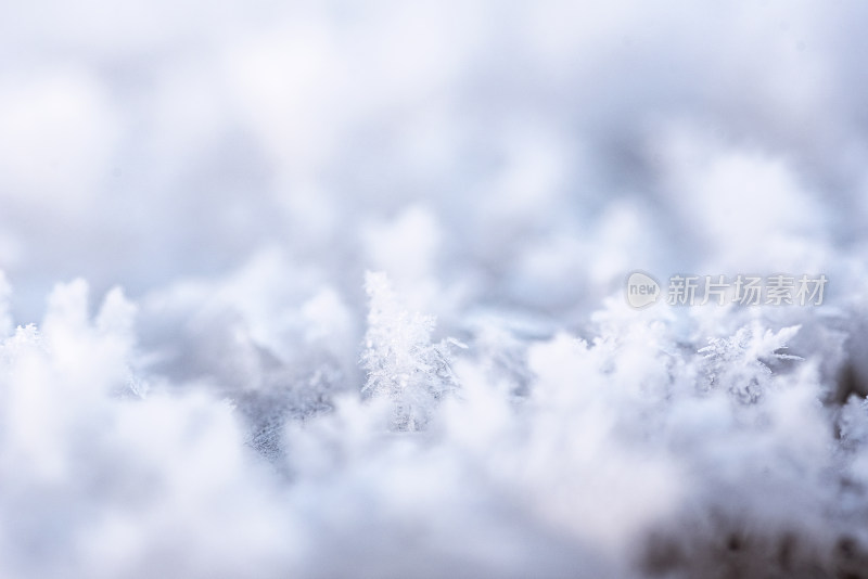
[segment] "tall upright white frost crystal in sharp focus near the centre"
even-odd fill
[[[423,429],[437,402],[457,386],[450,366],[451,338],[432,344],[435,319],[403,308],[384,273],[366,274],[368,332],[361,363],[366,397],[394,402],[392,428]]]

